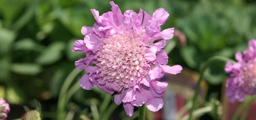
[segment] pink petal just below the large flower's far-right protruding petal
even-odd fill
[[[163,93],[166,90],[168,82],[159,82],[156,80],[151,80],[150,85],[158,93]]]

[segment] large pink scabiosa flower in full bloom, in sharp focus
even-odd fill
[[[97,22],[93,27],[83,26],[84,40],[73,45],[72,51],[86,53],[86,58],[75,62],[78,69],[88,72],[80,79],[81,87],[91,90],[97,85],[108,94],[117,91],[114,102],[123,102],[128,116],[133,115],[134,106],[143,104],[158,111],[163,107],[161,96],[168,85],[158,79],[164,72],[177,74],[182,70],[180,65],[166,65],[168,56],[162,49],[166,40],[173,38],[174,28],[160,32],[169,13],[159,8],[152,17],[142,9],[139,13],[126,10],[122,14],[113,1],[110,4],[112,11],[101,16],[91,9]]]

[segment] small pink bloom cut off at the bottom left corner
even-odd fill
[[[3,117],[0,117],[0,120],[5,120],[9,112],[9,104],[3,98],[0,98],[0,115],[3,115]]]

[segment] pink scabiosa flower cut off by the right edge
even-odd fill
[[[243,53],[236,53],[235,64],[228,61],[225,66],[226,73],[230,73],[226,82],[226,95],[230,102],[242,102],[246,94],[256,94],[256,40],[250,40],[248,46]]]

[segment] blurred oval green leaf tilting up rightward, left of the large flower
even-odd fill
[[[43,53],[36,58],[36,62],[42,65],[49,65],[61,59],[62,50],[65,48],[64,42],[54,42],[50,44]]]

